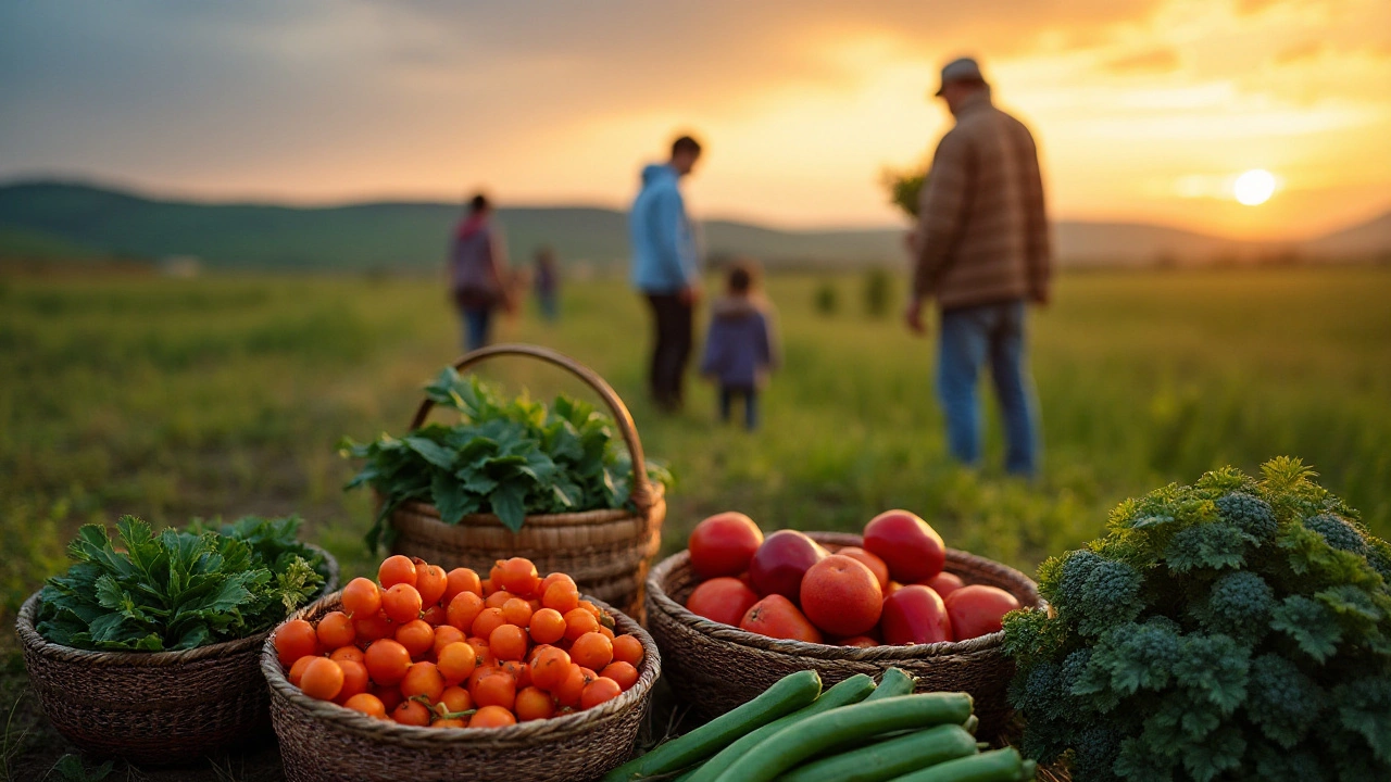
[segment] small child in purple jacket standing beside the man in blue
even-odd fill
[[[768,303],[755,289],[755,267],[729,270],[727,292],[711,305],[701,374],[719,383],[719,417],[729,420],[734,397],[744,398],[744,426],[758,429],[758,387],[778,365]]]

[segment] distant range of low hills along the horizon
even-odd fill
[[[385,202],[330,207],[161,200],[67,182],[0,186],[0,257],[196,256],[214,269],[428,270],[442,262],[460,207]],[[620,267],[627,259],[622,212],[583,206],[498,210],[516,257],[552,245],[568,263]],[[747,255],[775,266],[901,264],[903,228],[783,231],[748,223],[702,224],[707,255]],[[1260,245],[1178,228],[1060,221],[1066,264],[1146,266],[1253,259],[1299,252],[1367,256],[1391,250],[1391,213],[1301,248]]]

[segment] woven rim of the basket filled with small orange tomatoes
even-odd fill
[[[289,622],[291,619],[300,619],[319,609],[341,605],[341,591],[327,594],[316,603],[289,615],[285,621]],[[625,625],[623,632],[632,633],[637,637],[637,640],[643,644],[643,669],[638,672],[637,682],[626,692],[620,693],[616,699],[602,703],[594,708],[576,711],[574,714],[551,717],[548,719],[533,719],[529,722],[508,725],[505,728],[451,728],[448,731],[441,731],[438,728],[421,728],[417,725],[401,725],[389,718],[377,719],[331,701],[312,699],[299,687],[291,685],[289,679],[285,678],[285,672],[281,671],[280,658],[275,654],[274,630],[271,632],[271,636],[264,640],[262,647],[262,673],[266,675],[266,682],[270,685],[273,694],[285,699],[285,701],[292,705],[295,711],[298,711],[300,718],[325,722],[338,731],[369,737],[376,742],[395,742],[401,744],[428,743],[434,747],[460,743],[516,744],[530,739],[548,739],[554,733],[577,732],[583,731],[588,725],[616,718],[629,708],[641,708],[652,686],[657,683],[657,679],[662,675],[662,660],[661,653],[657,648],[657,641],[652,640],[652,636],[650,636],[641,625],[602,600],[590,596],[583,596],[581,598],[588,600],[601,609],[612,614],[615,622]]]

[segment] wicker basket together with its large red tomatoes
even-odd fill
[[[1014,667],[1000,619],[1040,607],[1028,576],[947,548],[907,511],[875,516],[862,536],[765,537],[748,516],[719,513],[647,582],[647,623],[668,679],[705,715],[794,671],[833,683],[897,667],[918,690],[971,693],[983,735],[1010,715]]]

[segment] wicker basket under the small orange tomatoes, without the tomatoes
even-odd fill
[[[285,778],[291,782],[580,782],[601,776],[632,754],[662,662],[652,637],[637,622],[602,601],[588,600],[613,615],[618,633],[632,633],[643,641],[645,654],[637,683],[594,708],[509,728],[416,728],[314,700],[285,679],[275,646],[267,640],[260,665],[270,682],[270,711]],[[328,596],[292,618],[313,622],[339,605],[337,594]]]

